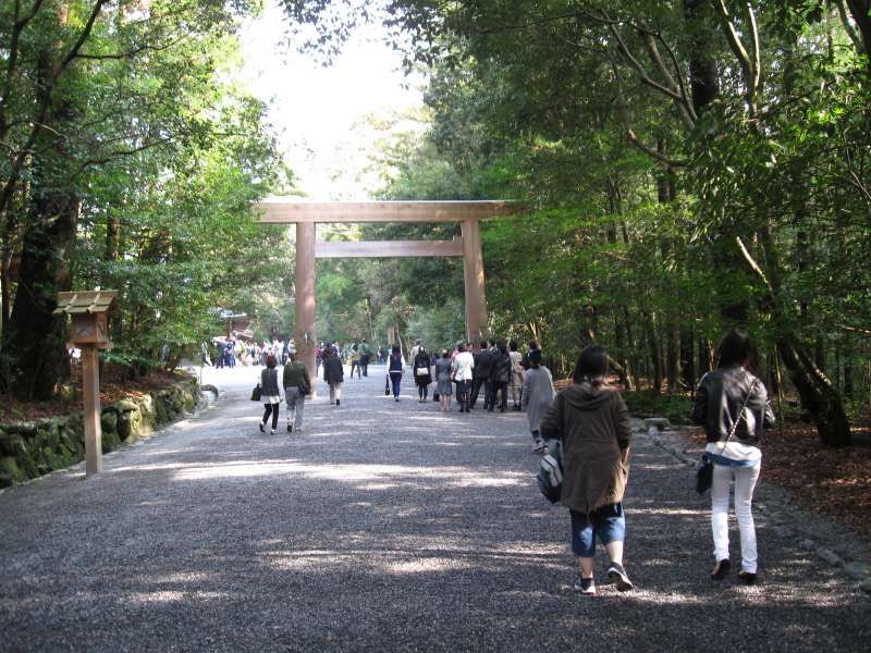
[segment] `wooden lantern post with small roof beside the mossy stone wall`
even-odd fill
[[[82,391],[85,420],[85,473],[102,469],[102,432],[100,431],[100,349],[111,349],[110,312],[118,311],[116,291],[58,293],[56,313],[72,320],[69,348],[82,350]]]

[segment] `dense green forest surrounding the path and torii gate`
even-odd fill
[[[541,342],[561,374],[601,343],[626,389],[668,395],[743,326],[778,402],[851,443],[871,392],[869,0],[281,4],[291,46],[326,64],[370,22],[427,75],[402,116],[424,128],[371,152],[375,198],[528,207],[483,227],[491,333]],[[0,2],[0,391],[58,392],[62,289],[122,292],[109,356],[132,368],[196,347],[216,307],[292,331],[271,299],[292,244],[253,207],[304,190],[234,79],[258,9]],[[322,262],[318,331],[447,345],[462,288],[444,260]]]

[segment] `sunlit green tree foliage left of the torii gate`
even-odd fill
[[[292,175],[266,108],[236,79],[237,19],[258,8],[46,2],[29,23],[0,21],[14,52],[0,120],[0,167],[13,187],[0,194],[2,254],[51,219],[33,209],[41,194],[81,207],[70,274],[58,276],[69,285],[44,291],[119,289],[115,360],[144,368],[163,344],[191,349],[221,332],[216,309],[257,317],[266,286],[290,285],[283,232],[259,226],[252,205]]]

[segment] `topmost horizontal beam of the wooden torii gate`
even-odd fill
[[[258,205],[260,222],[465,222],[508,215],[522,202],[475,201],[287,201],[267,199]]]

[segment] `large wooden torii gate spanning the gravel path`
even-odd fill
[[[296,349],[315,374],[315,263],[319,258],[457,257],[464,259],[466,336],[487,335],[480,220],[515,213],[520,205],[479,201],[298,201],[260,202],[260,222],[296,224]],[[463,235],[453,241],[316,242],[319,222],[459,222]]]

